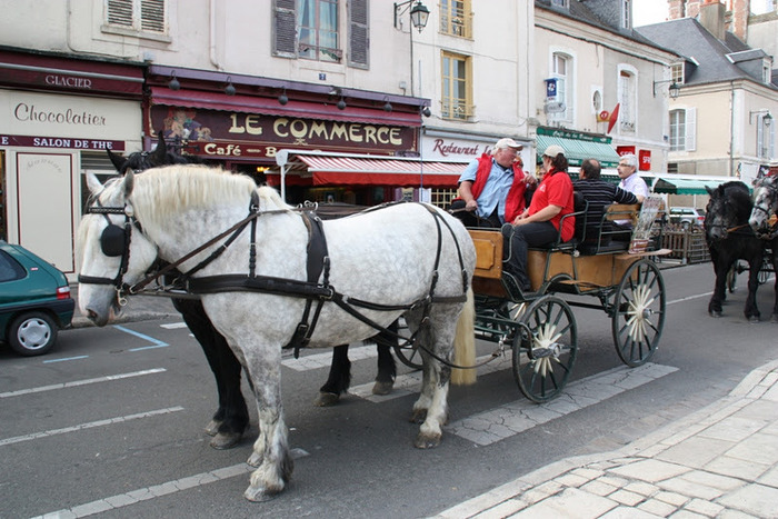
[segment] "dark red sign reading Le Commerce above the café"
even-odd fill
[[[393,154],[416,149],[416,129],[153,106],[151,128],[166,140],[186,141],[187,152],[220,158],[275,157],[283,148]]]

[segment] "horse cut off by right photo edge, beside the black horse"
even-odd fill
[[[767,243],[766,254],[776,275],[772,322],[778,322],[778,177],[767,176],[754,186],[754,209],[748,220],[751,229]]]

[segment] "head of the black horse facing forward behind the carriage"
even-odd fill
[[[747,224],[751,212],[748,187],[739,181],[716,189],[706,188],[710,199],[706,207],[705,232],[708,242],[724,240],[732,230]]]

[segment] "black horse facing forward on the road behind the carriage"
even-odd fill
[[[760,313],[756,295],[759,287],[759,269],[765,257],[765,241],[757,238],[748,224],[754,206],[748,187],[740,181],[731,181],[716,189],[706,189],[710,200],[706,208],[705,238],[716,273],[716,286],[708,303],[708,313],[721,317],[727,273],[738,259],[744,259],[748,262],[748,297],[744,312],[746,319],[757,322]]]

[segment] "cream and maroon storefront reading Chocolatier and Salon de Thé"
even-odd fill
[[[74,277],[83,170],[140,147],[142,86],[131,64],[0,51],[0,239]]]

